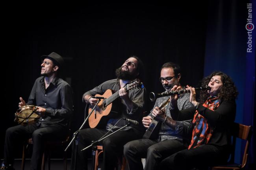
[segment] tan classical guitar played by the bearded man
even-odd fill
[[[125,91],[128,91],[140,86],[141,84],[142,82],[140,82],[139,79],[135,79],[129,84],[126,84],[124,89]],[[98,103],[93,111],[94,113],[92,113],[89,117],[89,126],[91,128],[104,128],[108,122],[108,119],[117,117],[119,113],[121,104],[116,100],[119,98],[119,90],[115,92],[108,89],[103,95],[96,94],[95,96],[104,97],[104,99]],[[93,106],[90,105],[89,113],[92,109]]]

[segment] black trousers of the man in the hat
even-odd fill
[[[40,170],[43,156],[44,141],[56,141],[65,139],[67,128],[61,125],[50,124],[45,127],[37,127],[35,124],[28,126],[17,125],[6,130],[4,143],[4,164],[13,165],[13,155],[17,143],[32,137],[33,151],[31,169]]]

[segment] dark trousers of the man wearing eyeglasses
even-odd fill
[[[141,158],[147,158],[144,170],[156,170],[162,159],[185,149],[181,139],[154,141],[138,139],[124,145],[124,156],[130,170],[143,170]]]

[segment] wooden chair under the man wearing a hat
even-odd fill
[[[45,143],[45,150],[44,150],[44,153],[43,153],[41,170],[45,170],[45,159],[46,158],[47,158],[47,162],[48,162],[48,170],[50,170],[50,151],[51,151],[51,149],[53,149],[55,147],[58,147],[58,146],[63,146],[63,148],[64,148],[67,145],[68,141],[69,141],[69,136],[70,136],[70,129],[69,129],[69,133],[68,133],[65,140],[63,140],[63,141],[47,141]],[[24,170],[25,153],[26,153],[26,149],[28,148],[29,144],[33,144],[32,138],[28,139],[28,141],[24,142],[24,144],[23,144],[21,170]],[[64,152],[63,162],[64,162],[64,170],[67,170],[67,152]]]

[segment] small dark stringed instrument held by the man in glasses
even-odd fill
[[[163,101],[158,108],[160,110],[165,108],[165,106],[167,106],[169,104],[169,102],[170,102],[170,98]],[[160,127],[161,127],[161,122],[154,119],[154,117],[153,117],[152,122],[150,123],[149,127],[147,128],[146,132],[143,135],[143,138],[156,139],[158,137]]]

